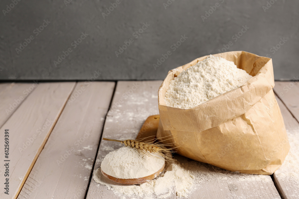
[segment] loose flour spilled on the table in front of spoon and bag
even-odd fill
[[[193,161],[175,155],[175,162],[167,162],[164,171],[152,181],[140,185],[118,184],[105,178],[100,168],[94,171],[93,179],[99,190],[112,190],[119,198],[167,198],[176,194],[177,198],[202,197],[209,189],[216,192],[237,192],[239,189],[246,192],[248,198],[263,198],[260,186],[272,185],[269,175],[251,175],[226,171],[216,166]],[[215,184],[219,185],[215,187]],[[213,187],[213,188],[211,188]],[[104,188],[104,189],[105,189]],[[277,198],[279,195],[277,194]]]

